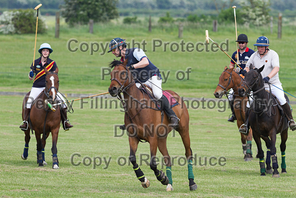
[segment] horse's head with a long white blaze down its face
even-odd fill
[[[45,93],[48,98],[51,98],[53,101],[56,99],[56,95],[59,91],[59,69],[57,68],[55,72],[48,72],[44,68],[45,76]]]

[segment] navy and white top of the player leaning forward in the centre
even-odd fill
[[[126,59],[128,59],[128,67],[131,64],[136,64],[140,62],[143,58],[147,58],[147,56],[140,48],[131,48],[126,50]],[[131,70],[134,77],[136,77],[140,82],[146,82],[152,76],[159,76],[161,78],[159,69],[149,60],[149,58],[147,59],[149,61],[149,64],[146,67]]]

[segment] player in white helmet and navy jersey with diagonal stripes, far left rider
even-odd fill
[[[31,89],[31,93],[30,93],[28,102],[27,102],[26,106],[24,107],[24,118],[25,119],[23,120],[23,122],[19,126],[19,128],[23,131],[26,131],[28,129],[28,117],[29,117],[29,113],[30,113],[31,105],[32,105],[33,101],[45,89],[45,74],[42,71],[44,71],[45,67],[49,72],[55,72],[56,69],[58,68],[56,62],[49,58],[50,54],[53,52],[53,49],[50,46],[50,44],[42,43],[38,52],[40,53],[40,58],[34,60],[34,67],[33,67],[33,63],[32,63],[32,65],[30,67],[31,71],[29,72],[29,79],[30,80],[33,80],[34,74],[36,74],[36,76],[33,81],[33,86]],[[58,93],[57,99],[61,100],[62,102],[65,102],[65,101],[63,101],[64,99],[60,93]],[[62,118],[62,123],[63,123],[64,129],[67,130],[67,129],[73,127],[73,125],[71,125],[67,120],[66,105],[63,105],[62,114],[63,115],[61,116],[61,118]]]

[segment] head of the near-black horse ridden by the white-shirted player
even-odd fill
[[[260,74],[263,69],[264,65],[260,69],[255,68],[244,75],[244,80],[238,89],[238,95],[240,97],[243,97],[245,93],[249,94],[251,91],[255,92],[264,86],[263,79]]]

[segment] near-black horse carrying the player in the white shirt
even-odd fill
[[[239,87],[239,95],[242,97],[253,91],[253,103],[249,114],[249,123],[253,129],[253,138],[257,144],[258,157],[260,159],[260,172],[272,173],[273,177],[280,177],[278,168],[278,158],[276,155],[276,139],[277,134],[281,135],[281,154],[282,154],[282,173],[286,173],[285,150],[288,138],[288,120],[281,111],[281,105],[272,94],[265,91],[261,72],[264,65],[260,69],[250,70],[245,74],[244,81]],[[261,139],[265,141],[267,147],[266,169],[264,164],[264,152],[261,146]],[[270,156],[272,158],[273,167],[270,166]]]

